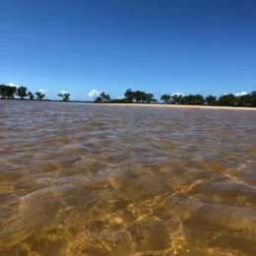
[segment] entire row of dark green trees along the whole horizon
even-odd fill
[[[2,98],[15,98],[19,96],[21,99],[29,97],[30,99],[42,99],[44,94],[36,92],[34,95],[32,92],[28,92],[26,87],[11,87],[6,85],[0,85],[0,97]],[[59,94],[57,96],[62,97],[64,101],[68,101],[70,94]],[[224,96],[202,96],[202,95],[162,95],[160,100],[165,104],[190,104],[190,105],[227,105],[227,106],[256,106],[256,91],[247,95],[235,96],[227,94]],[[95,102],[109,102],[109,103],[156,103],[158,100],[153,94],[147,94],[143,91],[126,90],[124,97],[111,98],[104,92],[100,93],[95,98]]]

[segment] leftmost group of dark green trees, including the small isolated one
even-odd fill
[[[33,95],[32,92],[28,92],[26,87],[11,87],[4,84],[0,85],[0,97],[15,98],[15,96],[20,96],[21,99],[24,99],[25,97],[34,99],[34,96],[36,96],[36,99],[42,99],[45,95],[41,92],[36,92]],[[67,101],[69,100],[70,94],[59,94],[57,96],[60,96],[64,101]]]

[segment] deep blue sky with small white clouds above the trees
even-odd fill
[[[0,84],[10,83],[77,100],[250,93],[256,1],[0,0]]]

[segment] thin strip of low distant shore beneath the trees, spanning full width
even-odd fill
[[[197,108],[197,109],[229,109],[229,110],[256,110],[251,106],[222,106],[222,105],[190,105],[190,104],[164,104],[164,103],[113,103],[113,102],[95,102],[89,100],[57,100],[57,99],[29,99],[29,98],[0,98],[2,100],[22,100],[37,102],[61,102],[61,103],[89,103],[92,105],[108,105],[108,106],[150,106],[150,107],[169,107],[169,108]]]

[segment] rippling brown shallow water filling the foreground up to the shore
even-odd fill
[[[0,255],[256,255],[256,112],[0,101]]]

